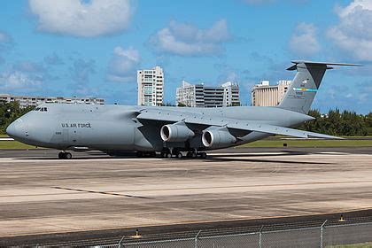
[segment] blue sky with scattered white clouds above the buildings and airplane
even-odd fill
[[[136,70],[181,81],[291,80],[291,60],[357,63],[326,73],[321,112],[372,108],[372,0],[19,0],[0,8],[0,93],[136,105]]]

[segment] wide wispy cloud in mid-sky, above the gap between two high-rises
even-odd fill
[[[208,29],[171,21],[169,27],[159,30],[150,38],[156,51],[180,56],[216,55],[222,51],[221,43],[231,35],[225,19],[216,21]]]

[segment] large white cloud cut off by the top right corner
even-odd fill
[[[353,58],[372,61],[372,1],[354,0],[338,7],[337,15],[339,23],[329,28],[329,39]]]

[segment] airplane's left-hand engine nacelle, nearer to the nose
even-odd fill
[[[160,136],[167,142],[185,142],[195,133],[186,126],[184,122],[177,122],[161,127]]]

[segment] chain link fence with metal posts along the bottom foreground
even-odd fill
[[[331,248],[333,245],[364,244],[372,247],[372,222],[365,223],[333,223],[329,226],[324,221],[322,226],[267,230],[261,228],[256,232],[205,235],[199,231],[197,236],[165,239],[158,241],[120,240],[119,244],[100,245],[105,248],[267,248],[267,247],[321,247]],[[358,246],[359,247],[359,246]]]

